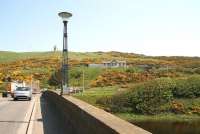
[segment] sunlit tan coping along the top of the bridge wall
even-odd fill
[[[151,134],[140,127],[137,127],[82,100],[67,95],[63,97],[119,134]]]

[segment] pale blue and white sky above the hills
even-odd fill
[[[59,11],[70,11],[70,51],[200,56],[198,0],[2,0],[0,50],[62,48]]]

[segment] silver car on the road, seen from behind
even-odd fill
[[[32,98],[32,89],[30,87],[17,87],[14,91],[14,100]]]

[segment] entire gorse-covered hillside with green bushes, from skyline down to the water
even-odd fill
[[[61,52],[0,52],[0,90],[5,89],[4,84],[8,78],[28,80],[31,76],[40,80],[41,87],[60,88],[58,80],[61,77],[61,58]],[[126,60],[129,67],[90,68],[85,66],[89,63],[102,63],[102,61],[113,59]],[[131,115],[147,114],[146,111],[151,111],[150,114],[199,115],[200,113],[199,57],[148,57],[121,52],[70,52],[69,65],[70,86],[81,87],[84,72],[86,91],[75,96],[107,111],[117,112],[116,114],[119,115],[124,115],[126,112]],[[142,68],[140,65],[149,67]],[[194,80],[188,79],[194,78],[193,76],[195,76]],[[175,88],[173,84],[172,87],[171,84],[168,85],[168,79],[175,82]],[[146,87],[143,87],[144,83]],[[154,86],[156,83],[157,86]],[[193,87],[195,87],[194,90]],[[165,89],[167,92],[162,94],[161,91]],[[156,100],[156,97],[153,97],[151,101],[142,102],[141,100],[145,100],[145,98],[141,99],[144,93],[146,96],[156,94],[158,98]],[[163,102],[160,102],[163,96]],[[194,98],[187,98],[188,96],[194,96]],[[150,102],[152,103],[149,104]]]

